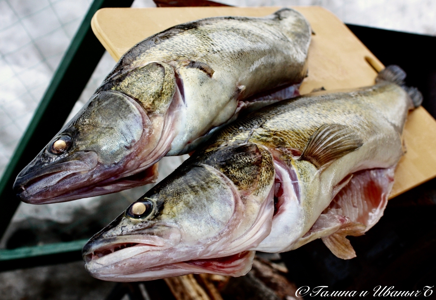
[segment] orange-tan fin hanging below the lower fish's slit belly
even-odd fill
[[[356,252],[347,236],[357,237],[363,235],[365,230],[366,226],[364,224],[350,222],[344,224],[339,230],[328,237],[322,237],[321,240],[336,257],[349,260],[356,257]]]

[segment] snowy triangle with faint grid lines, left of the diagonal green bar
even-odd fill
[[[0,0],[0,175],[92,0]]]

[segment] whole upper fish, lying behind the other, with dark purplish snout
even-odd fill
[[[242,111],[297,96],[311,34],[301,13],[283,8],[146,38],[18,174],[18,198],[55,203],[155,182],[162,157],[190,153]]]

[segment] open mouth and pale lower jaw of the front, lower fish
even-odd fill
[[[247,273],[252,264],[255,251],[243,251],[225,257],[214,257],[206,259],[187,259],[182,261],[167,261],[162,258],[155,260],[151,267],[140,267],[145,256],[153,251],[166,251],[168,254],[177,253],[172,247],[168,249],[165,245],[150,245],[144,243],[116,243],[110,246],[101,247],[92,253],[83,255],[86,262],[85,268],[93,277],[109,281],[132,281],[132,280],[154,280],[181,276],[191,273],[214,273],[225,276],[241,276]],[[120,257],[128,257],[120,259]],[[116,261],[109,265],[107,260]],[[150,257],[153,261],[153,257]],[[135,265],[132,264],[135,262]],[[147,261],[147,260],[145,260]]]

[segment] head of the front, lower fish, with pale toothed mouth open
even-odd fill
[[[230,153],[239,154],[240,162],[245,160],[245,169],[229,168],[235,157],[223,160],[226,153],[222,151],[202,163],[190,158],[132,203],[85,245],[86,270],[110,281],[248,272],[254,255],[250,249],[271,227],[274,171],[261,172],[263,157],[256,147],[252,153],[242,153],[246,147],[241,148]],[[249,157],[256,160],[249,161]],[[227,165],[232,174],[219,165]],[[263,166],[263,170],[271,168]],[[247,171],[252,176],[245,177],[245,182],[235,180]],[[258,188],[241,189],[250,180]]]

